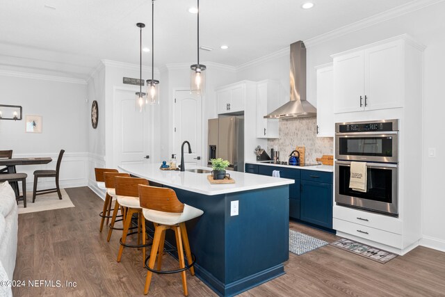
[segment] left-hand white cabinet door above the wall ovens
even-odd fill
[[[360,97],[362,97],[362,101],[360,101]],[[362,110],[364,110],[363,51],[335,57],[334,113]]]

